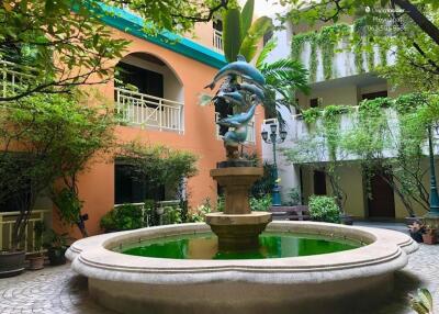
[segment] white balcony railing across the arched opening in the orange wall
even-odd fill
[[[122,123],[159,131],[184,132],[183,103],[115,88],[115,110]]]

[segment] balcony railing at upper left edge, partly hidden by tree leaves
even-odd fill
[[[11,97],[27,86],[34,78],[30,68],[0,59],[0,96]]]

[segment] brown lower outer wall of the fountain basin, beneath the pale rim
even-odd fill
[[[93,301],[123,314],[352,314],[373,313],[378,304],[389,302],[393,279],[393,273],[384,273],[333,282],[315,279],[303,285],[235,280],[156,285],[89,279],[89,292]]]

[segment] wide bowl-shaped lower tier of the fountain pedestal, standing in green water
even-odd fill
[[[218,237],[218,249],[236,251],[259,247],[259,235],[271,222],[271,213],[252,212],[250,214],[230,215],[224,213],[206,214],[209,224]]]

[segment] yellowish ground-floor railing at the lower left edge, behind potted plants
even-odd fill
[[[12,229],[19,214],[20,212],[0,212],[0,251],[11,248]],[[50,214],[52,210],[32,212],[25,229],[24,239],[20,244],[19,248],[24,249],[26,253],[33,253],[35,250],[35,223],[44,222]]]

